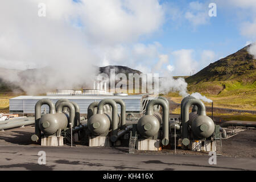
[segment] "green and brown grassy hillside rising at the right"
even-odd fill
[[[256,60],[249,46],[185,78],[188,92],[204,94],[218,107],[256,110]]]

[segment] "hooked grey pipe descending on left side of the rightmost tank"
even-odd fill
[[[191,105],[196,105],[199,108],[199,115],[206,115],[205,106],[202,101],[195,98],[188,99],[183,103],[183,110],[181,110],[182,115],[182,143],[184,146],[188,146],[188,121],[189,121],[189,107]]]

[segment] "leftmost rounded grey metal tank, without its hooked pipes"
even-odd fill
[[[39,121],[39,129],[44,135],[55,134],[59,129],[68,126],[68,118],[64,113],[44,114]]]

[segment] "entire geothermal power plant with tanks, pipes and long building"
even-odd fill
[[[175,116],[170,105],[167,98],[146,94],[59,90],[47,96],[11,98],[10,112],[27,117],[1,123],[0,129],[34,125],[31,143],[41,146],[126,146],[130,154],[182,148],[221,155],[221,138],[226,137],[226,131],[206,115],[202,101],[183,98],[180,115]]]

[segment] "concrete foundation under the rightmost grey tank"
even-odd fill
[[[210,140],[194,140],[190,142],[190,150],[198,152],[216,151],[216,144],[215,141]]]

